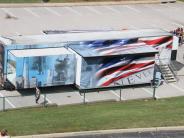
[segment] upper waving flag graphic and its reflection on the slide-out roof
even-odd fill
[[[134,53],[135,51],[145,47],[152,46],[155,49],[172,48],[172,36],[133,38],[121,40],[99,40],[88,41],[85,44],[94,52],[101,56],[118,55],[123,53]]]

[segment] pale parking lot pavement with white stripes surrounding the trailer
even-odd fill
[[[173,30],[184,26],[184,3],[144,3],[83,6],[47,6],[47,7],[0,7],[0,34],[34,35],[43,34],[43,30],[110,30],[160,28]],[[6,18],[10,15],[13,18]],[[177,62],[179,81],[156,89],[156,98],[184,96],[184,46],[179,47]],[[0,110],[37,106],[34,89],[25,91],[0,90]],[[70,86],[60,86],[41,90],[40,104],[67,105],[84,102],[84,95]],[[152,98],[153,88],[142,86],[120,90],[94,91],[85,95],[85,102],[107,100],[133,100]]]

